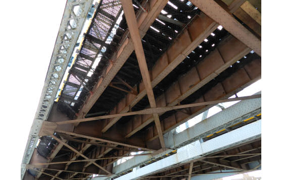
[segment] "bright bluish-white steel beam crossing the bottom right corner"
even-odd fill
[[[134,168],[132,172],[129,172],[116,179],[137,179],[143,176],[163,171],[164,169],[172,166],[188,163],[197,159],[199,160],[205,155],[248,143],[250,141],[257,140],[260,137],[261,120],[213,138],[209,141],[203,143],[200,143],[200,141],[196,141],[192,144],[183,146],[177,150],[176,154],[173,154],[142,168]]]

